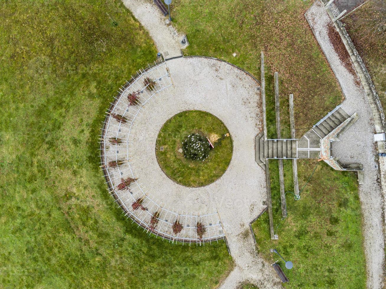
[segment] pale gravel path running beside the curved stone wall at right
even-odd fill
[[[354,77],[339,60],[327,35],[331,23],[323,5],[316,1],[306,13],[316,39],[337,76],[346,97],[342,108],[348,113],[358,113],[359,119],[332,145],[332,155],[342,163],[362,163],[364,184],[359,185],[362,204],[364,248],[367,262],[367,287],[383,286],[384,235],[383,196],[380,176],[376,167],[377,152],[374,144],[374,121],[362,85],[355,84]]]

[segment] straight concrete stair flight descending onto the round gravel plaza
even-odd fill
[[[256,138],[255,160],[265,170],[267,158],[293,159],[296,156],[297,139],[264,139],[264,133],[259,133]]]

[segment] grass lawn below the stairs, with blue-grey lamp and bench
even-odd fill
[[[317,161],[301,160],[302,188]],[[268,215],[252,224],[256,249],[270,264],[278,260],[277,249],[292,270],[281,268],[288,288],[365,288],[366,265],[361,233],[362,217],[356,175],[335,171],[320,162],[315,174],[295,201],[286,195],[288,218],[275,224],[279,240],[269,236]]]

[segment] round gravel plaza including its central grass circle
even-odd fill
[[[159,212],[159,219],[169,228],[175,219],[185,222],[180,235],[186,238],[194,235],[189,226],[195,228],[196,219],[201,218],[194,216],[210,213],[219,217],[200,219],[208,228],[206,240],[223,236],[223,229],[227,235],[239,234],[240,226],[259,215],[266,200],[265,172],[255,162],[255,136],[262,131],[260,85],[249,74],[217,59],[181,57],[167,60],[166,66],[169,77],[156,77],[158,92],[149,101],[143,100],[149,99],[149,89],[141,88],[137,104],[128,105],[127,93],[115,101],[114,112],[127,119],[107,119],[104,138],[120,138],[122,143],[105,141],[103,161],[123,159],[119,166],[106,168],[110,188],[126,211],[146,196],[155,204],[143,205],[148,215]],[[168,79],[170,85],[163,89]],[[130,89],[138,89],[134,84]],[[179,152],[182,141],[192,133],[213,141],[214,149],[202,164],[186,160]],[[220,145],[217,138],[222,138]],[[127,177],[135,179],[128,181],[130,190],[120,190]],[[169,211],[174,212],[172,217]],[[127,215],[139,222],[145,213],[135,210],[135,217]],[[148,221],[143,221],[145,227]],[[210,227],[215,224],[216,228]],[[158,228],[164,227],[159,223]]]

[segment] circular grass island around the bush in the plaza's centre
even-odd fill
[[[188,160],[179,152],[182,142],[192,133],[199,133],[212,141],[214,148],[204,161]],[[225,124],[213,114],[196,110],[178,113],[168,119],[158,133],[158,164],[169,178],[180,185],[209,185],[225,173],[232,159],[232,138],[224,136],[227,133]]]

